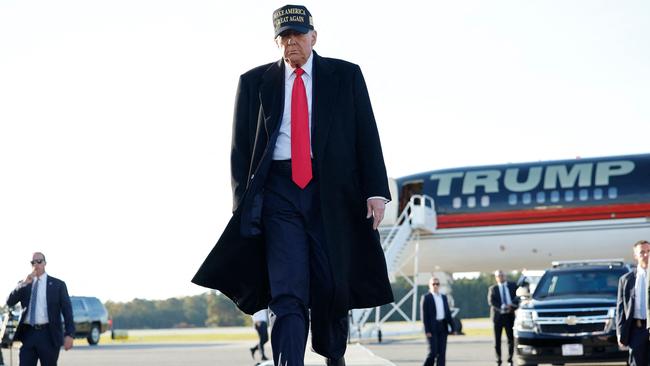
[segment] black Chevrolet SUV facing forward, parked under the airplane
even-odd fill
[[[616,340],[618,279],[631,269],[622,260],[554,262],[516,313],[519,365],[625,363]],[[523,291],[522,291],[523,290]]]

